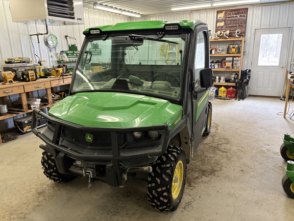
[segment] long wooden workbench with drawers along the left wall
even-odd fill
[[[38,107],[38,109],[42,109],[45,107],[52,107],[52,92],[56,89],[57,86],[70,84],[71,76],[55,77],[55,78],[40,78],[36,81],[29,82],[19,82],[16,81],[14,84],[3,85],[0,84],[0,97],[3,100],[3,104],[8,104],[8,98],[10,95],[19,94],[22,109],[24,112],[19,112],[19,114],[7,114],[5,116],[0,116],[0,121],[8,118],[13,118],[18,115],[23,115],[26,113],[30,113],[33,110],[29,109],[27,97],[33,98],[33,92],[37,90],[46,90],[46,97],[48,100],[48,105]],[[2,143],[1,134],[0,134],[0,143]]]

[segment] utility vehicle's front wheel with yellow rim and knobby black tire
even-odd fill
[[[185,152],[169,145],[167,152],[152,164],[148,176],[147,197],[154,209],[173,212],[178,208],[184,193],[186,170]]]

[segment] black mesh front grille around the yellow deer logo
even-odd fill
[[[92,135],[92,142],[86,141],[86,135]],[[65,139],[71,140],[74,143],[89,146],[89,147],[111,147],[111,132],[110,131],[83,131],[71,127],[63,128],[63,136]],[[126,143],[126,134],[124,132],[117,133],[118,145],[121,147]]]

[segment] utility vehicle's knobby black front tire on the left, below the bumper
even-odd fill
[[[55,159],[51,153],[44,151],[41,160],[43,173],[49,180],[57,183],[65,183],[74,180],[77,176],[60,173],[56,167]]]

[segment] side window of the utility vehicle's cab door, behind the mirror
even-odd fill
[[[194,61],[194,75],[195,85],[199,84],[200,70],[205,68],[205,38],[204,33],[200,32],[197,35],[195,61]]]

